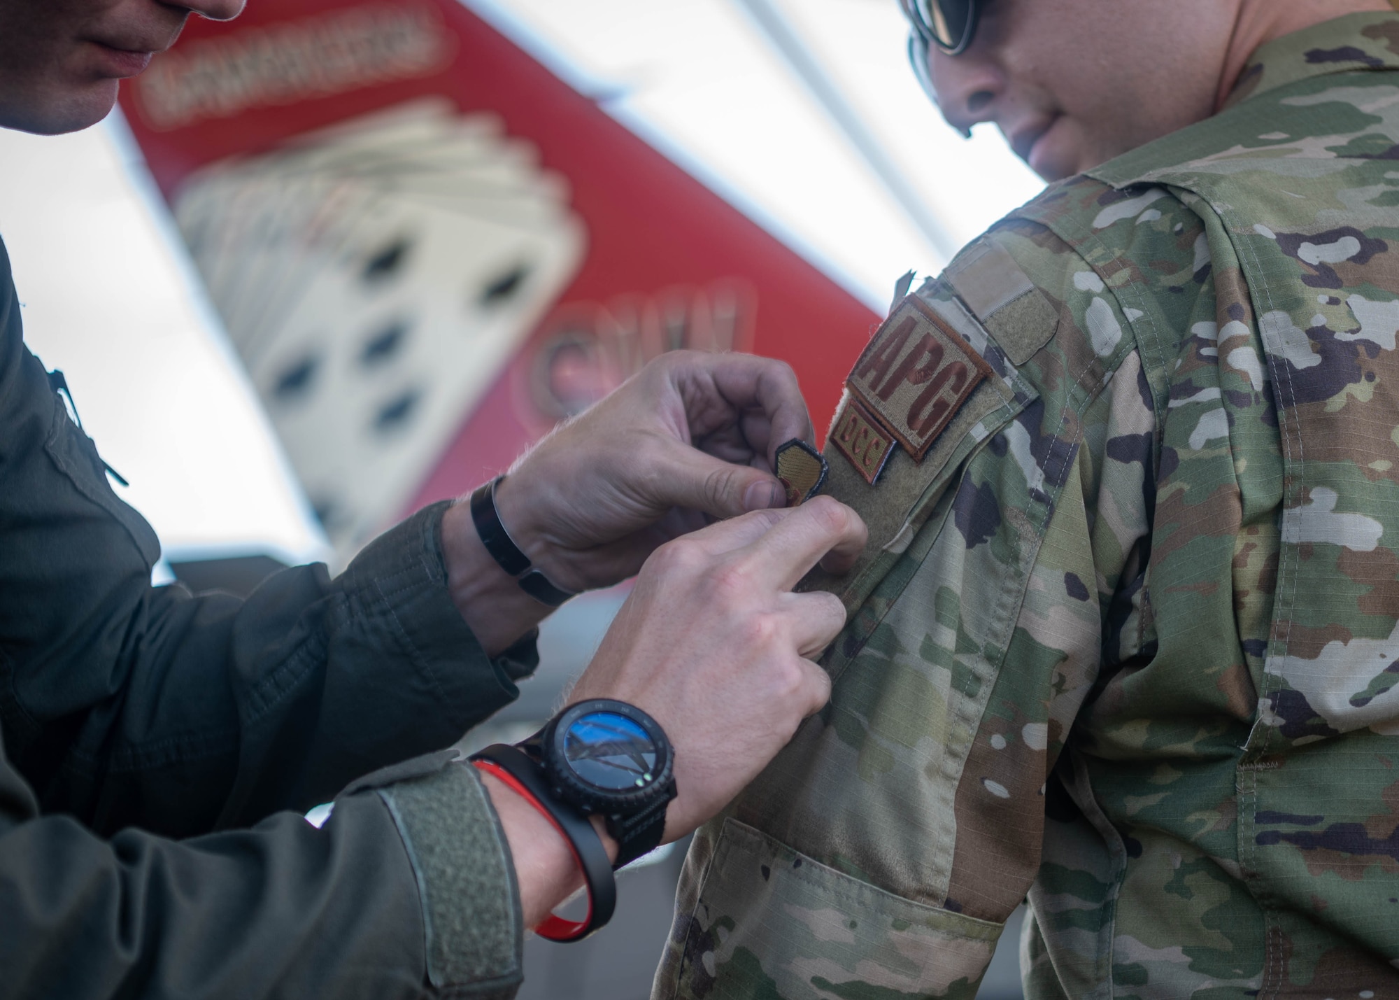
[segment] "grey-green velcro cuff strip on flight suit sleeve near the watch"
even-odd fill
[[[388,805],[417,877],[428,982],[442,996],[509,1000],[523,978],[515,863],[474,768],[441,751],[360,779]]]

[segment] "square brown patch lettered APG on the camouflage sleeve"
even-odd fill
[[[918,296],[908,296],[874,333],[845,385],[921,462],[989,374],[981,354]]]

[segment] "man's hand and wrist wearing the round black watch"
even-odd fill
[[[859,515],[828,497],[715,524],[662,546],[569,702],[616,697],[651,714],[676,755],[665,840],[722,810],[831,695],[814,658],[839,634],[832,594],[793,594],[818,560],[841,571],[865,546]],[[487,779],[529,926],[578,885],[564,840]]]

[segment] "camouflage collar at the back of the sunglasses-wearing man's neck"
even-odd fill
[[[1399,14],[1347,14],[1260,46],[1224,106],[1298,80],[1354,70],[1399,70]]]

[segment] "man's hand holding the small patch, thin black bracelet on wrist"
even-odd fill
[[[673,352],[516,462],[497,508],[554,584],[607,587],[708,518],[782,507],[774,452],[793,437],[814,434],[786,364]],[[467,504],[442,518],[442,548],[452,595],[488,653],[548,612],[485,555]]]

